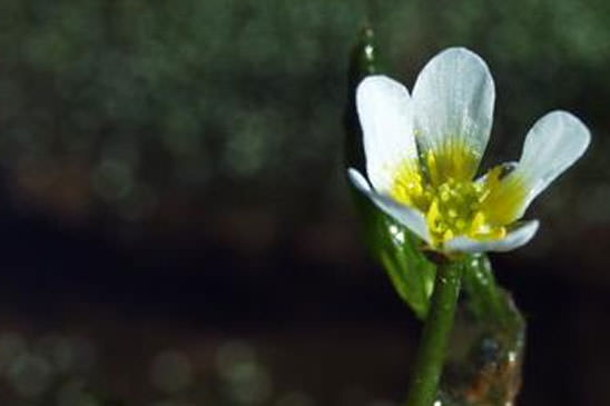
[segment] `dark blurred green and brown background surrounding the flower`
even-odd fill
[[[492,260],[529,320],[520,404],[610,404],[606,0],[1,3],[3,404],[399,405],[420,324],[342,158],[365,22],[410,88],[444,47],[488,61],[483,168],[551,109],[591,128]]]

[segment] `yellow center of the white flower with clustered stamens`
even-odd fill
[[[483,204],[496,187],[500,175],[501,168],[496,168],[488,174],[485,181],[446,178],[433,185],[425,181],[416,165],[405,165],[394,178],[391,195],[424,214],[433,247],[457,236],[499,239],[506,235],[506,228],[490,221]]]

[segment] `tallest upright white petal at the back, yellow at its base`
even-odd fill
[[[413,88],[415,138],[431,180],[471,180],[488,145],[495,87],[486,63],[450,48],[423,68]]]

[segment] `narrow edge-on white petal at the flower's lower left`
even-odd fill
[[[377,194],[371,189],[371,186],[366,179],[356,169],[350,168],[347,174],[350,176],[350,180],[352,180],[352,184],[356,187],[356,189],[368,197],[382,211],[409,228],[424,241],[431,241],[427,224],[424,216],[420,211],[401,205],[387,196]]]

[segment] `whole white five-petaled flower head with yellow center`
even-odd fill
[[[530,202],[584,152],[587,127],[565,111],[542,117],[519,162],[474,179],[490,136],[495,89],[485,62],[450,48],[422,70],[413,96],[384,76],[356,91],[366,172],[353,184],[380,209],[444,252],[506,251],[527,244]]]

